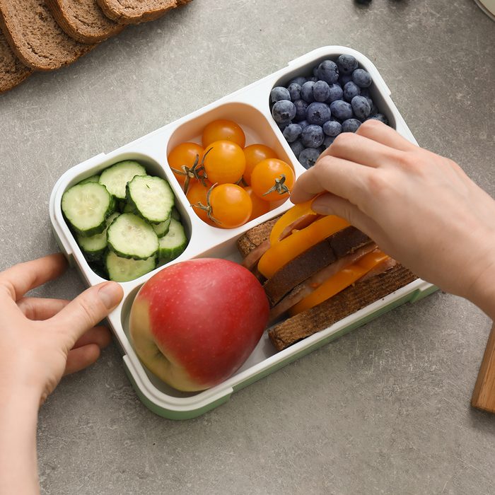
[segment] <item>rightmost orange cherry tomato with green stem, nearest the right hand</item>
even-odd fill
[[[294,187],[296,175],[289,165],[278,158],[267,158],[252,170],[251,187],[264,201],[286,199]]]

